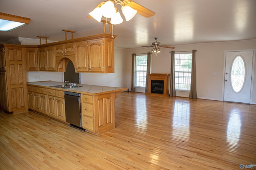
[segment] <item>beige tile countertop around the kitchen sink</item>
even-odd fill
[[[69,84],[68,82],[53,82],[53,81],[42,81],[42,82],[27,82],[27,85],[37,85],[37,86],[56,86],[56,85],[62,85],[62,84]],[[127,88],[119,88],[119,87],[109,87],[109,86],[96,86],[96,85],[89,85],[89,84],[76,84],[76,86],[82,86],[82,87],[76,87],[76,88],[68,88],[68,89],[63,89],[63,88],[55,88],[55,87],[50,87],[54,88],[55,90],[64,90],[64,91],[75,91],[75,92],[80,92],[80,93],[90,93],[90,94],[104,94],[106,92],[111,92],[111,91],[122,91],[122,90],[127,90]]]

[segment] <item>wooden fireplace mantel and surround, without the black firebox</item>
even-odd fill
[[[164,81],[164,94],[157,94],[151,92],[151,80],[163,80]],[[152,95],[158,95],[158,96],[168,96],[170,95],[170,74],[158,74],[158,73],[152,73],[148,74],[148,93]]]

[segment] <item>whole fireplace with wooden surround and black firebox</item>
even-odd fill
[[[168,96],[170,94],[170,74],[148,74],[148,93]]]

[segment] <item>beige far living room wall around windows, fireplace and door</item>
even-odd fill
[[[222,100],[223,69],[224,69],[224,51],[225,50],[245,50],[256,49],[256,40],[234,41],[220,43],[200,43],[190,45],[175,45],[174,51],[192,51],[196,52],[196,88],[198,98],[210,100]],[[131,88],[132,72],[132,53],[147,53],[148,49],[128,49],[127,58],[127,84]],[[152,54],[151,73],[170,73],[170,51],[172,49],[161,48],[161,52],[155,56]],[[256,64],[255,64],[256,66]],[[256,68],[254,69],[254,72]],[[213,72],[218,75],[214,76]],[[254,74],[252,103],[256,104],[256,74]],[[208,90],[208,92],[207,92]],[[179,92],[177,92],[179,95]],[[180,94],[182,96],[184,94]]]

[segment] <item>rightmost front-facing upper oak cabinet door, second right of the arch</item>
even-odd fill
[[[88,69],[91,72],[103,72],[103,40],[88,42]]]

